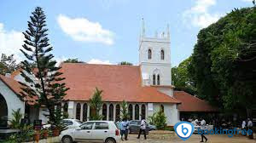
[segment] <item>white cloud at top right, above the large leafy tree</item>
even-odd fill
[[[222,14],[209,13],[209,8],[216,5],[216,0],[196,0],[195,5],[183,13],[186,24],[205,28],[216,22]]]

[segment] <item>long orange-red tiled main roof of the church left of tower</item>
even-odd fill
[[[62,63],[61,67],[70,88],[66,100],[90,100],[97,87],[103,90],[104,101],[180,103],[156,87],[143,87],[140,66]]]

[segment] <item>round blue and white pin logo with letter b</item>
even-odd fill
[[[182,140],[188,140],[194,133],[194,125],[188,122],[179,122],[174,126],[175,133]]]

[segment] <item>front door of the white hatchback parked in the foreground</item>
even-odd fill
[[[94,123],[88,122],[80,126],[80,129],[76,129],[74,134],[75,140],[80,142],[90,142],[93,140],[91,131],[93,129]]]

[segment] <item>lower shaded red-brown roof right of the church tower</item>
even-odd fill
[[[180,112],[217,112],[218,109],[210,106],[205,100],[201,100],[184,91],[174,91],[174,97],[182,104],[178,106]]]

